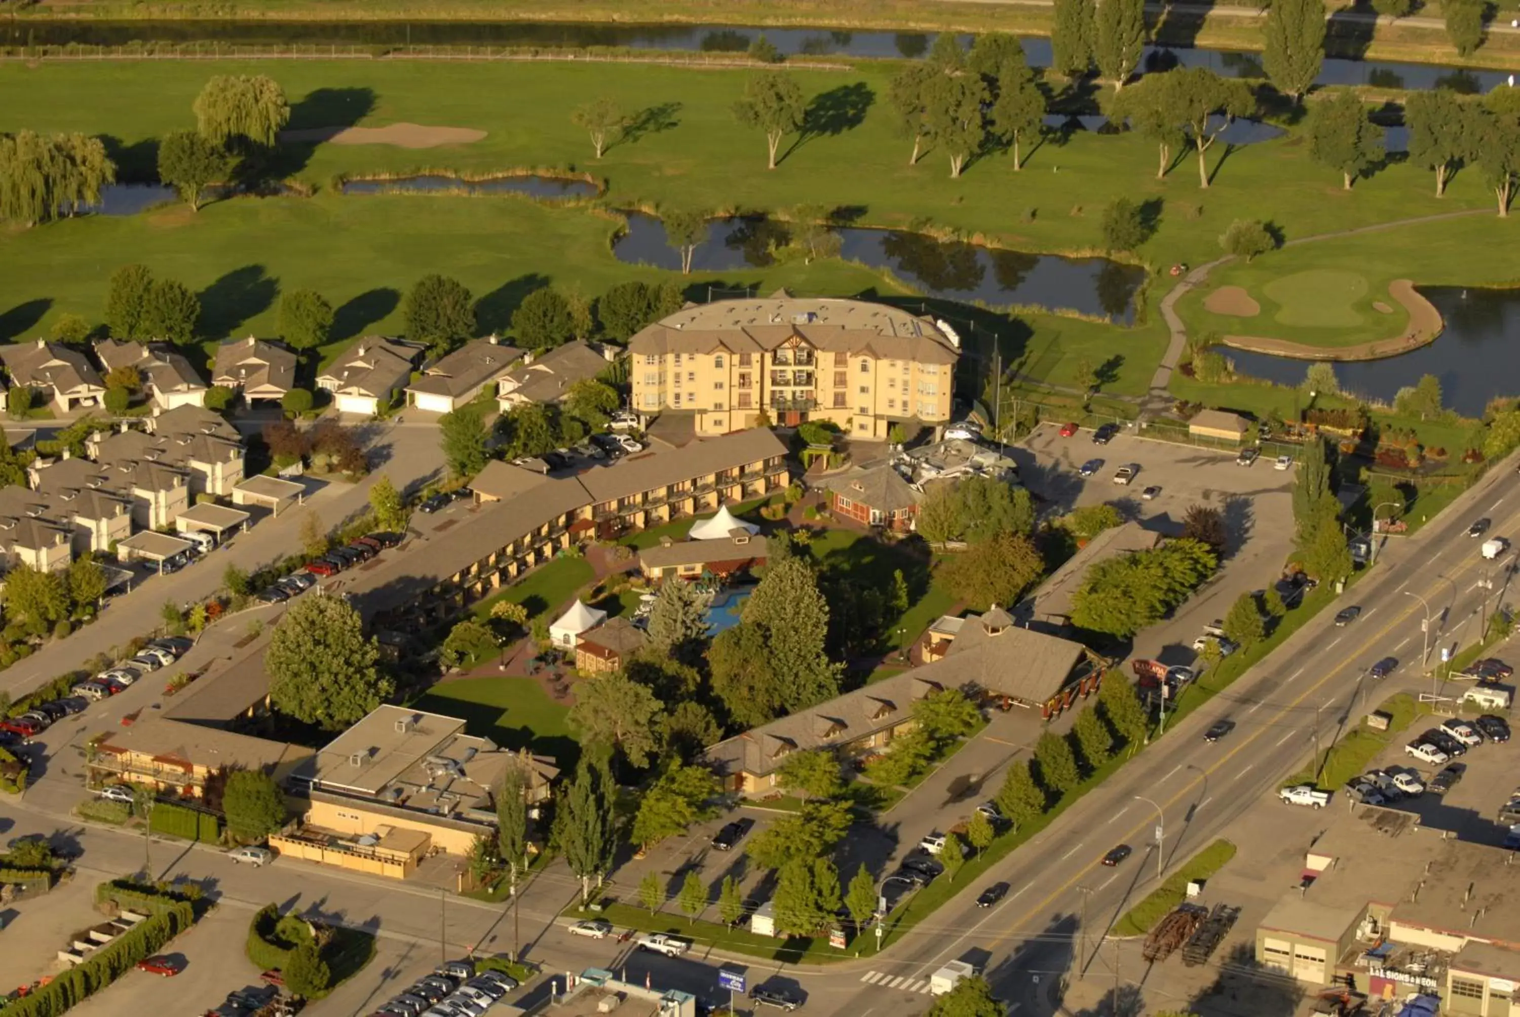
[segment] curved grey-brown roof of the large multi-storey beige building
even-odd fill
[[[689,304],[629,341],[629,353],[768,353],[796,341],[816,350],[918,363],[955,363],[959,339],[932,318],[857,299],[768,298]]]

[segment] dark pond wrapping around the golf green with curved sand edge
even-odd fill
[[[1441,336],[1397,357],[1336,363],[1341,388],[1391,404],[1400,388],[1433,374],[1441,379],[1442,401],[1464,417],[1480,417],[1496,395],[1520,395],[1520,290],[1435,286],[1420,292],[1441,312]],[[1307,360],[1221,353],[1237,371],[1283,385],[1301,383],[1309,371]]]

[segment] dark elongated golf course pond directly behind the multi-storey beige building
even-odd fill
[[[1108,258],[1000,251],[961,240],[936,240],[903,230],[833,230],[839,255],[891,269],[927,296],[991,307],[1011,304],[1075,310],[1134,324],[1134,295],[1145,269]],[[734,272],[775,263],[775,249],[790,240],[787,223],[771,219],[714,219],[692,257],[692,271]],[[613,249],[620,261],[681,269],[681,255],[666,242],[664,225],[643,213],[628,216],[628,234]]]

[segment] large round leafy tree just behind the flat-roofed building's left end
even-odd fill
[[[264,670],[275,710],[324,731],[350,727],[391,698],[380,646],[342,597],[301,597],[275,626]]]

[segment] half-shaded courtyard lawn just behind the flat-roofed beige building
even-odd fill
[[[572,768],[581,752],[570,730],[570,710],[550,699],[532,678],[445,681],[410,705],[459,718],[470,734],[505,748],[552,756],[561,769]]]

